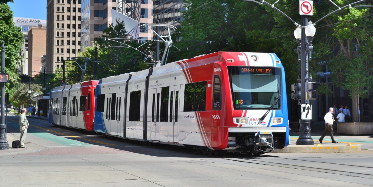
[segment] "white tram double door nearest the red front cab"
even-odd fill
[[[180,85],[170,86],[168,142],[179,142],[179,96]]]

